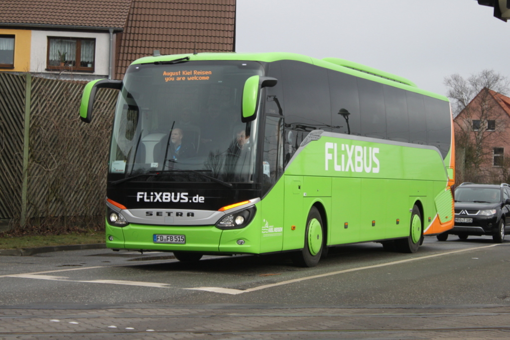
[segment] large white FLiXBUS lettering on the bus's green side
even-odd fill
[[[379,148],[326,142],[326,171],[352,171],[378,173],[380,170],[377,154]]]

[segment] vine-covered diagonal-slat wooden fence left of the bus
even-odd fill
[[[0,219],[87,223],[104,215],[115,90],[79,119],[83,84],[0,72]]]

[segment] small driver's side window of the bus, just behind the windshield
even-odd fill
[[[283,173],[283,118],[266,117],[264,155],[262,162],[262,191],[265,195]]]

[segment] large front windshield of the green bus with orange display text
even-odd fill
[[[130,66],[115,110],[109,173],[143,181],[254,181],[257,120],[241,122],[243,86],[252,75],[263,75],[260,63]]]

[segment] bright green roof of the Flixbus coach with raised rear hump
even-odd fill
[[[198,53],[198,54],[181,54],[181,55],[165,55],[165,56],[149,56],[135,60],[134,64],[146,64],[154,62],[172,61],[181,58],[189,58],[190,61],[207,61],[207,60],[250,60],[261,62],[274,62],[278,60],[294,60],[303,63],[309,63],[331,70],[347,73],[356,77],[361,77],[374,82],[394,86],[403,90],[420,93],[429,97],[449,101],[447,97],[437,93],[429,92],[418,88],[413,82],[404,77],[377,70],[375,68],[354,63],[339,58],[316,59],[295,53]]]

